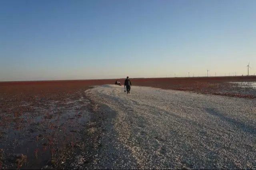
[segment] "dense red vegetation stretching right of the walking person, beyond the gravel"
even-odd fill
[[[229,82],[256,82],[256,76],[145,78],[132,80],[133,85],[182,90],[238,98],[256,98],[254,89],[241,88]]]

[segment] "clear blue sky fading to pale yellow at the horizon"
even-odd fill
[[[0,0],[0,81],[256,73],[256,0]]]

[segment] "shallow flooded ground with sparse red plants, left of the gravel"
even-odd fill
[[[90,119],[88,100],[46,101],[29,112],[14,111],[0,119],[0,168],[41,169],[55,163],[58,152],[72,149],[77,132]]]

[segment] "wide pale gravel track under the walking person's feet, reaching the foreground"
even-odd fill
[[[104,115],[83,168],[255,169],[256,100],[115,85],[86,91]]]

